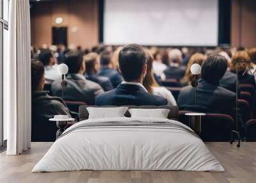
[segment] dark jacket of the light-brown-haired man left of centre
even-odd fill
[[[90,81],[100,84],[100,86],[103,88],[105,92],[113,89],[113,85],[108,77],[97,76],[96,74],[88,74],[86,76],[86,79],[89,79]]]

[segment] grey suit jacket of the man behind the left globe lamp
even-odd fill
[[[104,93],[101,86],[93,81],[85,79],[81,74],[68,74],[67,87],[64,88],[64,99],[82,101],[88,105],[95,104],[95,98]],[[52,95],[61,97],[61,79],[52,83]]]

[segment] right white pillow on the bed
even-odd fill
[[[131,118],[167,118],[170,109],[129,109],[128,111],[131,113]]]

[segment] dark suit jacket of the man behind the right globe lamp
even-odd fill
[[[186,86],[180,91],[178,105],[181,110],[234,116],[236,93],[200,79],[197,88],[197,101],[195,102],[195,88]]]

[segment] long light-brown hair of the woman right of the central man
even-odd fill
[[[143,86],[145,86],[148,92],[153,93],[153,87],[159,87],[154,77],[154,71],[153,71],[154,58],[152,54],[150,54],[150,52],[148,51],[145,51],[145,52],[147,54],[147,74],[143,79]]]

